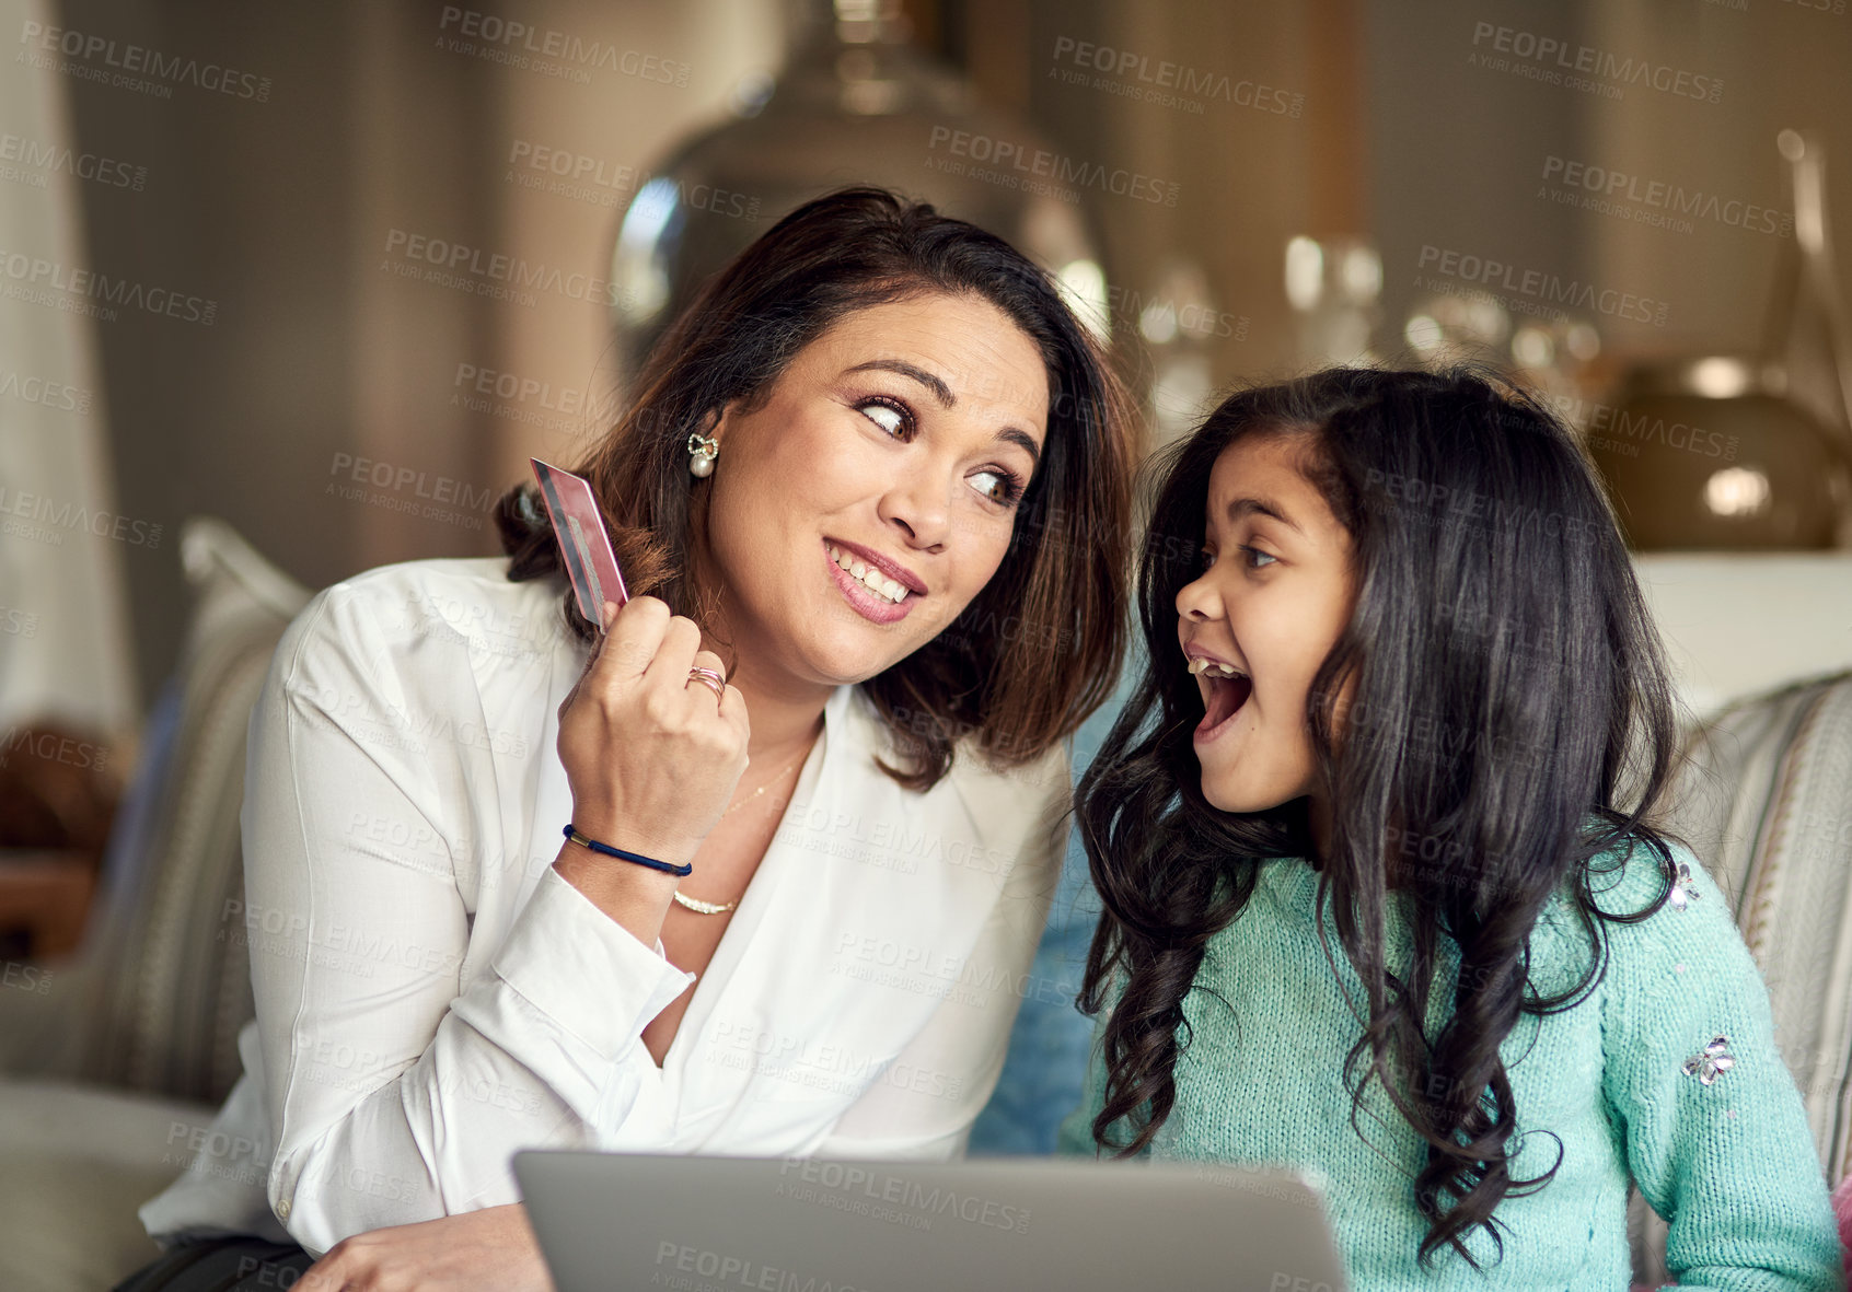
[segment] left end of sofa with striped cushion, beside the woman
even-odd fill
[[[187,1164],[239,1075],[250,963],[220,916],[243,894],[244,729],[309,589],[219,520],[189,520],[178,548],[193,615],[81,946],[44,966],[46,990],[0,992],[6,1292],[109,1288],[150,1261],[135,1209]]]

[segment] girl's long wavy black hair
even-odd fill
[[[1200,570],[1209,468],[1243,435],[1302,437],[1308,479],[1352,537],[1356,611],[1306,711],[1330,787],[1322,853],[1304,798],[1211,807],[1191,746],[1202,700],[1178,650],[1176,596]],[[1672,877],[1648,824],[1674,759],[1671,690],[1613,513],[1570,433],[1476,368],[1337,368],[1243,391],[1154,465],[1137,581],[1150,663],[1076,792],[1106,909],[1082,1009],[1113,1005],[1122,987],[1095,1140],[1122,1155],[1150,1144],[1174,1103],[1183,998],[1206,942],[1241,914],[1258,863],[1315,859],[1326,955],[1335,931],[1363,990],[1345,1057],[1352,1127],[1378,1081],[1428,1146],[1411,1181],[1430,1225],[1422,1264],[1450,1248],[1478,1266],[1469,1233],[1483,1227],[1502,1251],[1500,1199],[1556,1174],[1508,1170],[1517,1111],[1498,1046],[1520,1014],[1582,1000],[1604,972],[1604,924],[1656,911]],[[1339,711],[1346,677],[1356,690]],[[1635,844],[1665,887],[1645,911],[1604,913],[1589,863]],[[1391,885],[1415,898],[1406,981],[1383,961]],[[1543,996],[1530,933],[1565,885],[1591,957],[1574,987]],[[1452,983],[1435,981],[1443,938],[1459,951]],[[1435,990],[1452,1009],[1428,1035]],[[1128,1142],[1111,1138],[1115,1124]]]

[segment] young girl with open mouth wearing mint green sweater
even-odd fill
[[[1665,666],[1569,433],[1330,370],[1163,466],[1063,1148],[1315,1174],[1356,1288],[1622,1288],[1630,1183],[1685,1283],[1841,1286],[1754,961],[1650,826]]]

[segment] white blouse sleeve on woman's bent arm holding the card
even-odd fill
[[[467,659],[398,642],[354,587],[278,646],[241,818],[267,1194],[311,1251],[515,1201],[515,1149],[622,1122],[639,1077],[620,1059],[693,981],[550,866],[465,981],[469,794],[526,763],[446,739],[482,722]]]

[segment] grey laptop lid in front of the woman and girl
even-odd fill
[[[1324,1201],[1291,1172],[541,1149],[515,1177],[557,1292],[1345,1286]]]

